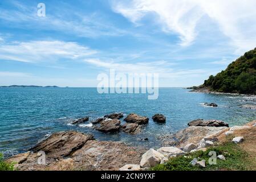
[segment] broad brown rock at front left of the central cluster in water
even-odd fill
[[[99,127],[95,127],[96,130],[104,133],[116,133],[120,131],[120,120],[118,119],[107,119],[100,122]]]

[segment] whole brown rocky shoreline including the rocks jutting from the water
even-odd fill
[[[121,117],[120,114],[114,115]],[[160,122],[165,118],[159,114]],[[120,126],[118,119],[101,120],[97,123],[100,127],[108,124],[111,130],[113,127],[119,127],[119,130],[126,130],[128,133],[134,133],[137,127],[147,124],[147,117],[140,117],[137,114],[128,115],[127,123]],[[87,120],[87,119],[82,119]],[[77,120],[77,121],[82,121]],[[155,118],[156,120],[156,118]],[[114,122],[113,122],[114,121]],[[103,122],[103,124],[102,124]],[[132,125],[132,126],[130,126]],[[256,122],[245,126],[228,127],[228,125],[218,120],[202,120],[197,119],[188,123],[188,127],[178,131],[175,134],[163,135],[158,139],[162,143],[162,147],[143,148],[131,147],[122,142],[99,141],[91,134],[79,133],[77,131],[62,131],[54,133],[50,137],[39,142],[29,151],[18,154],[6,159],[8,163],[15,163],[18,170],[147,170],[156,164],[164,163],[168,158],[184,155],[187,152],[205,150],[206,147],[212,146],[217,142],[223,134],[233,134],[237,130],[255,127]],[[239,142],[242,138],[237,138]],[[148,151],[147,151],[148,150]],[[38,160],[42,155],[46,156],[45,164],[39,164]]]

